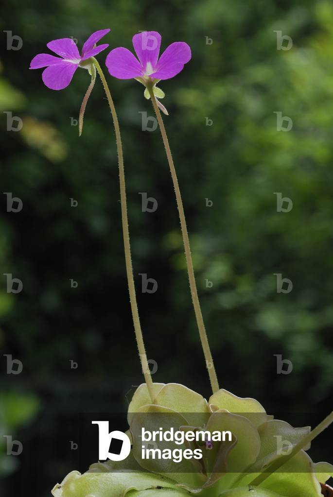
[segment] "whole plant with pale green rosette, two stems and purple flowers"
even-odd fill
[[[47,47],[59,57],[38,54],[32,59],[30,69],[43,68],[43,82],[53,90],[66,88],[78,68],[88,71],[91,81],[80,109],[80,135],[96,72],[103,84],[115,128],[125,262],[135,336],[146,383],[137,389],[128,409],[129,435],[132,439],[129,457],[120,463],[93,464],[83,475],[73,471],[62,484],[53,488],[52,494],[54,497],[125,497],[127,494],[128,497],[155,497],[158,492],[163,492],[164,497],[188,494],[203,497],[245,497],[250,492],[253,497],[321,496],[321,484],[325,484],[333,475],[333,466],[329,463],[314,464],[306,450],[310,447],[309,442],[332,422],[333,413],[312,431],[309,426],[294,428],[267,415],[256,400],[242,399],[219,389],[197,295],[176,170],[160,113],[161,109],[167,114],[160,102],[165,94],[156,86],[160,81],[171,79],[182,71],[191,59],[191,50],[185,42],[174,42],[160,56],[161,35],[156,31],[147,31],[133,37],[137,58],[126,48],[118,47],[108,54],[106,66],[115,78],[135,79],[142,83],[145,86],[145,97],[150,98],[153,103],[174,186],[193,307],[205,361],[206,364],[211,364],[208,373],[214,394],[207,401],[183,385],[152,382],[136,302],[120,128],[108,84],[95,59],[95,55],[108,47],[108,44],[97,45],[108,32],[107,28],[92,33],[83,44],[81,54],[73,39],[53,40]],[[154,420],[152,414],[164,416],[169,424],[172,421],[172,427],[177,430],[186,432],[204,428],[210,433],[229,430],[232,437],[228,443],[203,441],[200,445],[200,460],[186,459],[176,463],[176,467],[163,458],[143,459],[142,440],[139,444],[141,427],[146,425],[146,429],[150,431],[160,427],[156,425],[156,418]],[[288,440],[290,457],[276,450],[276,437]],[[197,442],[186,441],[184,447],[195,448],[196,444]],[[328,489],[326,486],[325,492]]]

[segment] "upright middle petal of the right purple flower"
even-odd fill
[[[133,47],[144,72],[155,70],[160,54],[161,35],[157,31],[143,31],[133,36]],[[149,66],[150,64],[150,66]]]

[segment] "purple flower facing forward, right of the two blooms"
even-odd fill
[[[171,43],[159,58],[161,35],[156,31],[134,35],[133,46],[139,60],[127,48],[111,50],[105,61],[111,76],[120,80],[168,80],[191,58],[191,49],[184,42]]]

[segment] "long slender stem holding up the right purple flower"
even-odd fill
[[[205,360],[206,360],[206,366],[208,369],[210,383],[212,386],[213,393],[215,393],[219,390],[219,383],[218,383],[218,379],[216,376],[214,362],[213,362],[212,354],[211,354],[208,339],[207,339],[205,325],[204,325],[203,318],[202,318],[202,313],[201,313],[201,308],[200,308],[200,303],[199,303],[199,298],[198,298],[198,292],[197,292],[196,283],[195,283],[193,262],[192,262],[192,256],[191,256],[190,243],[189,243],[189,239],[188,239],[184,208],[183,208],[183,203],[181,200],[177,174],[176,174],[176,170],[175,170],[175,167],[173,164],[173,159],[172,159],[172,155],[171,155],[169,142],[167,140],[166,129],[164,127],[161,112],[160,112],[160,109],[157,105],[157,101],[156,101],[156,98],[154,95],[153,85],[150,84],[147,86],[147,88],[148,88],[150,97],[151,97],[152,102],[153,102],[154,110],[156,113],[156,117],[157,117],[157,120],[158,120],[158,123],[160,126],[162,138],[163,138],[163,143],[164,143],[166,153],[167,153],[167,162],[169,163],[171,177],[172,177],[172,181],[173,181],[173,187],[174,187],[174,191],[176,194],[176,201],[177,201],[177,207],[178,207],[178,212],[179,212],[179,219],[180,219],[181,233],[182,233],[182,237],[183,237],[183,244],[184,244],[184,249],[185,249],[187,273],[188,273],[188,280],[189,280],[189,284],[190,284],[194,313],[195,313],[196,322],[198,325],[200,340],[201,340],[203,353],[204,353]]]

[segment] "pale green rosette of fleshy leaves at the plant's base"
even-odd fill
[[[288,440],[295,447],[311,431],[309,426],[294,428],[289,423],[266,414],[255,399],[240,398],[221,389],[209,400],[179,384],[154,383],[154,400],[146,384],[138,387],[128,408],[128,423],[133,446],[130,456],[121,462],[95,463],[81,475],[70,473],[52,490],[54,497],[320,497],[321,484],[333,476],[333,466],[313,463],[306,450],[299,450],[278,469],[268,473],[258,485],[251,482],[267,466],[283,458],[276,450],[276,437]],[[151,420],[145,428],[159,429],[154,416],[167,414],[172,425],[180,430],[230,430],[231,442],[202,444],[202,459],[177,463],[172,472],[169,460],[141,458],[138,433],[143,420]],[[144,417],[143,417],[144,416]],[[199,426],[193,426],[193,420]],[[185,442],[187,447],[197,442]],[[189,466],[192,465],[192,466]],[[193,467],[195,465],[195,467]],[[249,494],[250,492],[250,494]]]

